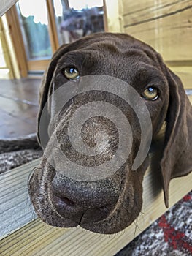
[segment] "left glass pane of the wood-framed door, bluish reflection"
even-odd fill
[[[20,0],[16,4],[28,70],[44,70],[53,54],[46,0]]]

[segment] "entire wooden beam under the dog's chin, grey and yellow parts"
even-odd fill
[[[1,176],[0,255],[114,255],[167,210],[159,176],[147,170],[143,181],[142,214],[137,225],[134,222],[118,234],[101,235],[80,227],[56,228],[39,219],[32,221],[36,217],[28,201],[27,181],[37,164],[38,160],[35,160]],[[170,207],[191,190],[191,182],[192,173],[172,180]],[[9,233],[12,234],[8,236]]]

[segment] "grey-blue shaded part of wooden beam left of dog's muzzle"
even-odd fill
[[[39,160],[2,173],[0,176],[0,237],[14,232],[36,218],[28,198],[28,176]],[[1,255],[1,253],[0,253]]]

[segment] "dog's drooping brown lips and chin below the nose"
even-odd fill
[[[113,234],[131,225],[142,208],[142,198],[130,185],[123,189],[118,201],[110,206],[83,211],[67,198],[53,194],[48,184],[43,184],[41,172],[34,171],[29,181],[29,194],[40,219],[55,227],[80,227],[93,233]]]

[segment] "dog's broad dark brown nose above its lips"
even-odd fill
[[[59,198],[60,206],[76,207],[79,211],[112,205],[117,202],[120,195],[120,189],[112,178],[75,181],[66,176],[56,175],[52,181],[52,189],[53,195]]]

